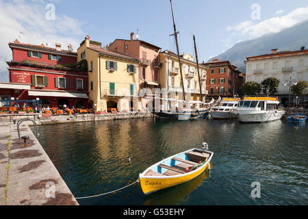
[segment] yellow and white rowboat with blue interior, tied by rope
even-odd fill
[[[190,149],[150,166],[139,175],[142,192],[151,194],[198,177],[210,168],[214,153],[207,150],[203,143],[203,149]]]

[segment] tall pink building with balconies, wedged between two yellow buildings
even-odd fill
[[[116,39],[110,44],[110,51],[130,55],[140,60],[139,83],[140,89],[149,88],[154,93],[159,88],[159,69],[162,63],[159,62],[160,47],[157,47],[143,40],[134,40],[131,33],[130,40]]]

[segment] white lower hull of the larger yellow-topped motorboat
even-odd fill
[[[242,111],[242,110],[241,110]],[[242,123],[266,123],[275,120],[280,120],[285,112],[284,111],[273,111],[273,112],[240,112],[238,119]]]

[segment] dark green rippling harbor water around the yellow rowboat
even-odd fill
[[[108,120],[43,125],[39,141],[75,197],[110,192],[182,151],[209,144],[212,169],[144,196],[125,190],[80,205],[307,205],[308,125],[277,120]],[[128,162],[127,157],[131,158]],[[259,182],[260,198],[251,196]]]

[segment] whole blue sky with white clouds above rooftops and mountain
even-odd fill
[[[209,60],[237,42],[277,33],[308,19],[307,0],[173,0],[180,53]],[[53,13],[54,12],[54,13]],[[55,16],[53,16],[55,15]],[[19,33],[22,32],[22,34]],[[8,42],[68,44],[76,51],[86,35],[109,44],[130,38],[176,51],[170,0],[0,0],[0,81],[8,81]]]

